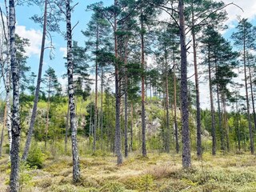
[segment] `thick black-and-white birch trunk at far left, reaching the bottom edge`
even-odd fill
[[[19,117],[19,70],[16,61],[16,45],[15,45],[15,2],[9,1],[10,17],[10,66],[13,81],[13,107],[12,107],[12,127],[11,127],[11,150],[10,150],[10,191],[18,192],[18,171],[19,171],[19,150],[20,150],[20,117]]]

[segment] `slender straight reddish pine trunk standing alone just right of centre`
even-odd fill
[[[145,53],[144,53],[144,25],[143,25],[143,18],[141,14],[141,49],[142,49],[142,156],[146,157],[146,117],[145,117]]]

